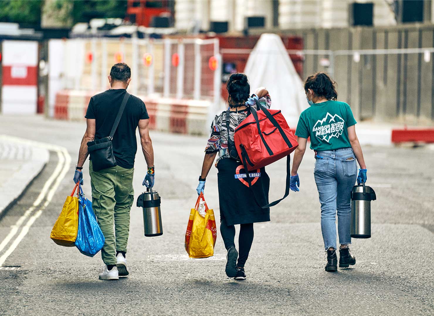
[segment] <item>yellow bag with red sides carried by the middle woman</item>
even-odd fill
[[[191,209],[185,233],[185,250],[190,258],[207,258],[214,255],[217,239],[214,211],[208,209],[204,193],[197,197],[196,206]]]

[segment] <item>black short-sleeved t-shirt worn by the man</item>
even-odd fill
[[[110,135],[125,92],[125,89],[109,89],[90,99],[85,118],[95,119],[95,139],[102,139]],[[140,119],[149,119],[148,111],[146,111],[145,103],[132,95],[128,99],[118,128],[113,135],[113,153],[117,164],[122,168],[134,167],[137,152],[135,131]]]

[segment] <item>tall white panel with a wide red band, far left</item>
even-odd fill
[[[38,42],[5,40],[2,50],[2,113],[36,113]]]

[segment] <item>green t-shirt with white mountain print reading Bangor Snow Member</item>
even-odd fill
[[[301,113],[296,135],[310,136],[310,148],[317,151],[349,148],[347,129],[355,123],[351,108],[345,102],[314,103]]]

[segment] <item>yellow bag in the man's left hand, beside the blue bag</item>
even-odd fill
[[[77,197],[74,193],[77,190]],[[75,247],[77,232],[79,227],[79,186],[74,187],[71,195],[66,197],[62,212],[54,223],[50,238],[57,245],[65,247]]]

